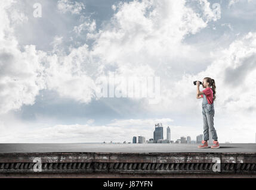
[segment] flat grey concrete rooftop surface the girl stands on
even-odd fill
[[[256,153],[256,143],[220,144],[220,148],[197,148],[198,144],[0,144],[0,153]]]

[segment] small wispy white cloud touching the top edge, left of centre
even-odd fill
[[[57,2],[57,8],[62,13],[71,12],[71,14],[80,14],[82,9],[85,9],[85,5],[77,1],[59,0]]]

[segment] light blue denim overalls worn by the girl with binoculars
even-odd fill
[[[203,140],[209,140],[209,131],[212,134],[213,140],[218,140],[217,133],[214,128],[214,103],[208,104],[205,94],[203,94],[202,102],[203,113]]]

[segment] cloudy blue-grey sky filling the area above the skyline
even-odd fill
[[[158,123],[164,138],[169,126],[171,140],[195,140],[203,120],[193,81],[205,77],[217,87],[218,141],[255,143],[255,8],[254,0],[1,1],[0,143],[149,140]]]

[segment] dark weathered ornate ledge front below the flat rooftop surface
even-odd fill
[[[2,144],[0,144],[1,147]],[[0,153],[0,176],[256,176],[256,153],[127,153],[127,152],[35,152]],[[204,150],[205,151],[205,150]]]

